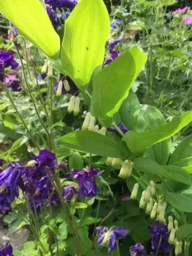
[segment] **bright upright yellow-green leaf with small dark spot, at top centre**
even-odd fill
[[[79,89],[102,65],[110,32],[109,15],[102,0],[81,0],[65,23],[61,64]]]

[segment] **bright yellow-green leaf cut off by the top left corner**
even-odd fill
[[[56,58],[60,39],[39,0],[0,0],[0,12],[39,50]]]

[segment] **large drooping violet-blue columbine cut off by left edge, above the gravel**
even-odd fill
[[[0,211],[9,210],[15,197],[19,196],[19,187],[24,191],[21,172],[11,164],[0,173]]]

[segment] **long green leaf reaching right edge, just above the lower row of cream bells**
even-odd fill
[[[162,166],[145,157],[135,158],[133,163],[134,169],[139,172],[149,172],[170,180],[191,185],[189,173],[178,166]]]

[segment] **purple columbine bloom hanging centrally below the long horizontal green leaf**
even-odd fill
[[[67,173],[67,179],[74,177],[77,179],[79,190],[79,197],[93,197],[99,194],[99,187],[95,182],[95,178],[100,175],[97,169],[90,170],[73,170],[73,172]]]

